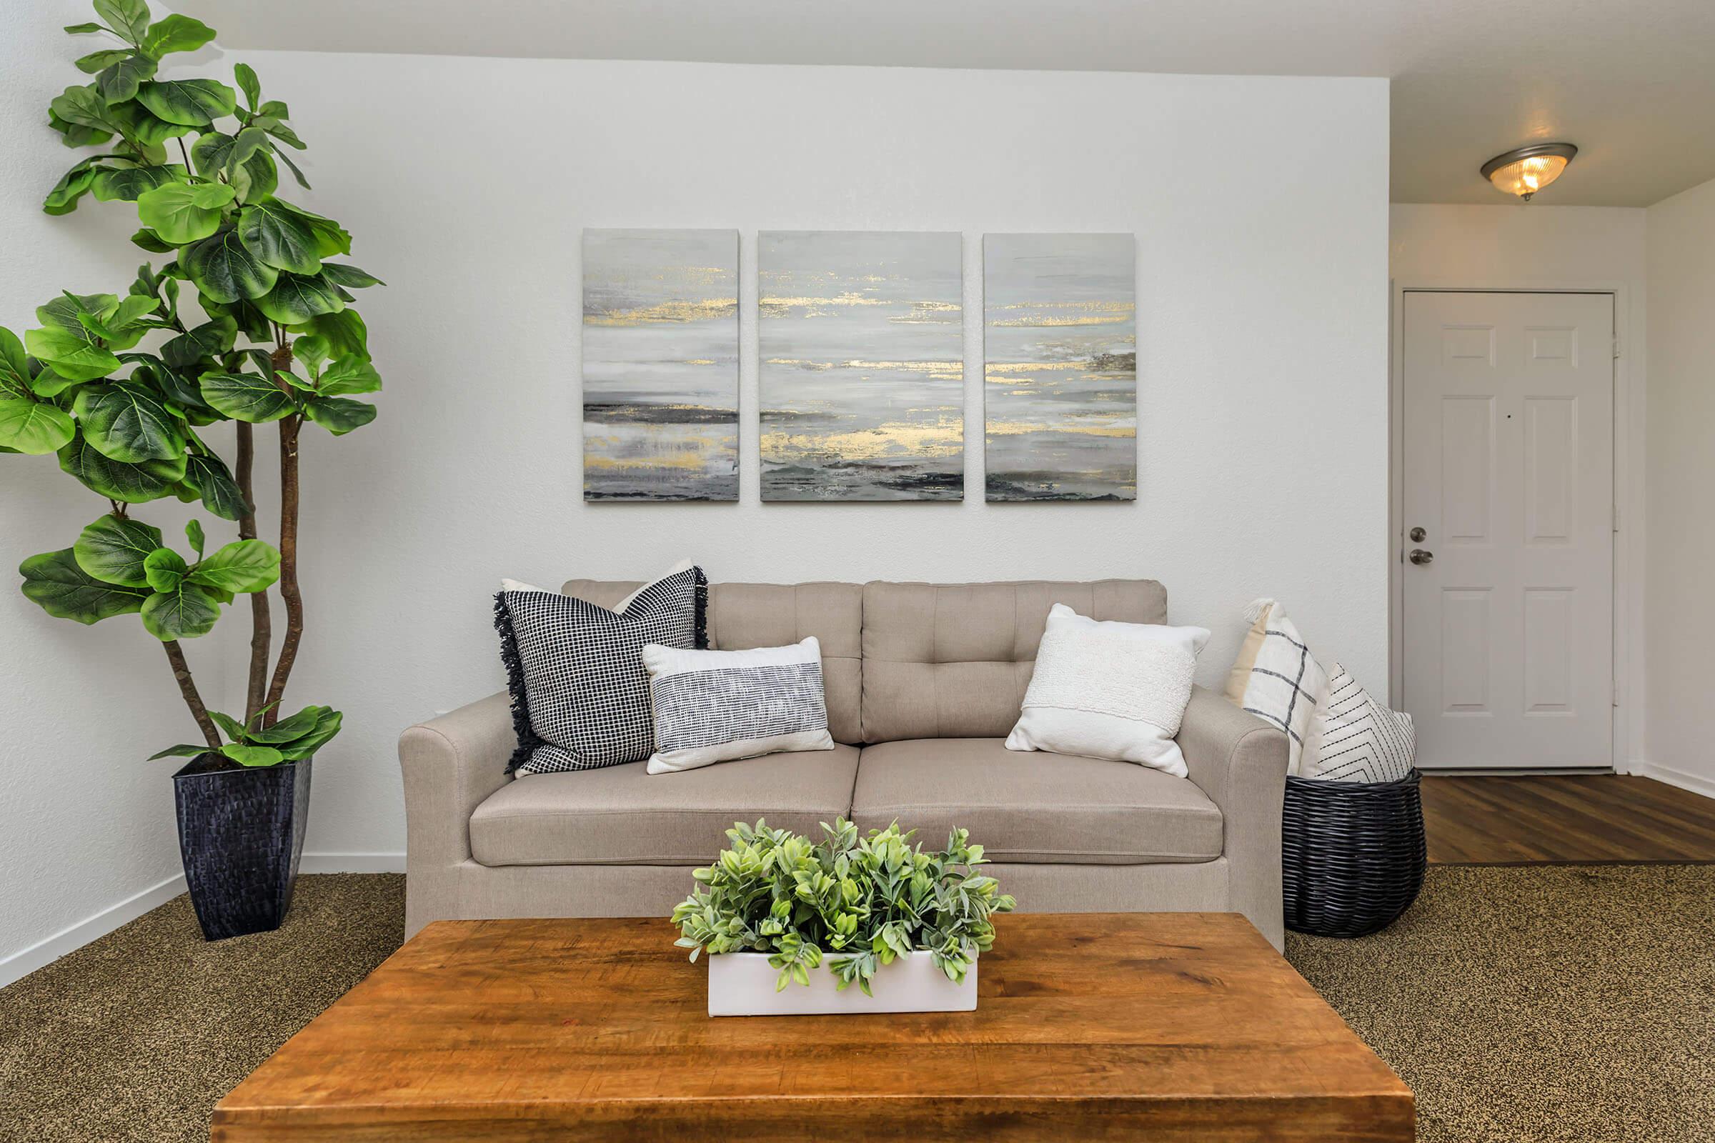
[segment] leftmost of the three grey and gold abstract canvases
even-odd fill
[[[583,499],[737,500],[739,236],[583,231]]]

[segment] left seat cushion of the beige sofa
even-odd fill
[[[470,816],[484,865],[707,865],[736,821],[821,836],[847,817],[858,747],[767,754],[650,775],[643,763],[527,775]]]

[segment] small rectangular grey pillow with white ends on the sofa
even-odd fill
[[[643,648],[655,754],[648,773],[713,766],[777,751],[832,751],[815,636],[784,648]]]

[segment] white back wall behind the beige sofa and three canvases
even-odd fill
[[[1291,600],[1319,648],[1384,679],[1386,81],[244,58],[310,144],[302,202],[348,223],[353,260],[391,283],[364,298],[381,418],[340,440],[305,430],[309,636],[288,704],[346,711],[317,759],[310,852],[403,850],[394,740],[499,689],[501,576],[645,576],[679,555],[717,581],[1154,576],[1175,622],[1216,629],[1206,682],[1257,595]],[[581,502],[585,226],[741,231],[741,504]],[[1139,500],[760,504],[763,228],[964,231],[971,315],[984,231],[1135,231]],[[58,250],[93,243],[55,235]],[[979,490],[971,319],[966,355]],[[63,518],[33,511],[38,533]],[[33,655],[69,661],[50,649]],[[105,667],[84,673],[108,694],[159,691]],[[48,745],[39,730],[7,749]],[[165,805],[134,814],[170,829]]]

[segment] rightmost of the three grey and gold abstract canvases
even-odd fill
[[[1137,499],[1132,235],[983,240],[990,500]]]

